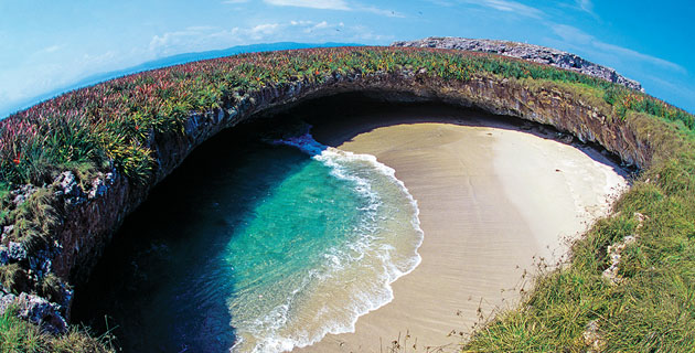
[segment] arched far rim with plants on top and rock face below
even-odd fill
[[[395,103],[473,107],[550,125],[644,170],[648,182],[673,181],[663,192],[651,192],[653,200],[695,190],[689,176],[680,176],[693,175],[695,162],[667,163],[695,150],[689,140],[694,116],[576,72],[500,55],[418,47],[310,49],[194,62],[68,92],[0,121],[0,313],[11,308],[44,331],[67,331],[74,288],[89,278],[124,218],[193,149],[245,121],[353,92]],[[695,200],[691,194],[676,196],[678,202]],[[621,210],[616,213],[631,215],[637,208]],[[695,234],[684,226],[694,224],[689,218],[656,212],[649,216],[665,222],[644,227],[659,232],[654,236],[682,229],[678,244],[687,244]],[[595,254],[606,254],[611,240],[591,243],[591,258],[601,258]],[[653,276],[645,268],[644,276]],[[587,284],[602,278],[589,270],[586,276]],[[688,298],[678,306],[689,304]],[[587,311],[587,322],[589,314],[596,315]],[[616,318],[610,324],[629,321]],[[677,336],[673,342],[692,340]]]

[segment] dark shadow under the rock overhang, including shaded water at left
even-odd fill
[[[229,244],[239,236],[236,229],[252,227],[249,224],[265,212],[259,207],[269,202],[267,197],[279,194],[278,188],[311,168],[311,158],[300,150],[269,143],[307,126],[325,147],[340,146],[381,127],[426,122],[518,129],[581,145],[549,126],[377,92],[304,100],[258,114],[248,121],[194,150],[127,217],[88,282],[76,289],[73,322],[114,333],[116,344],[126,351],[222,352],[238,343],[242,334],[232,324],[235,318],[231,310],[238,303],[229,298],[238,297],[237,287],[248,279],[232,278],[240,265],[231,260],[227,253],[237,248]],[[616,159],[596,146],[591,149]],[[287,196],[291,197],[297,195]],[[360,201],[346,197],[343,202]],[[275,212],[288,206],[278,207]],[[333,222],[327,220],[318,223]],[[290,238],[285,240],[291,243]],[[244,252],[258,248],[245,246]],[[263,249],[268,250],[268,246]],[[265,300],[264,296],[258,295],[258,300]]]

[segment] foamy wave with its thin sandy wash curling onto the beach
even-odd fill
[[[352,229],[360,237],[328,248],[322,254],[321,268],[310,269],[299,282],[292,284],[293,290],[281,304],[253,322],[246,322],[244,327],[235,325],[240,339],[232,347],[233,352],[291,351],[293,347],[311,345],[329,333],[354,332],[360,317],[393,300],[391,284],[413,271],[421,261],[417,253],[424,237],[419,208],[408,189],[396,178],[394,169],[378,162],[374,156],[321,145],[310,132],[274,140],[271,143],[291,146],[311,156],[328,167],[333,178],[352,184],[353,190],[367,202],[360,207],[363,218]],[[386,194],[385,190],[393,194]],[[404,200],[407,204],[399,205]],[[388,213],[404,211],[408,213],[404,220],[409,218],[411,239],[399,246],[393,243],[403,239],[393,233],[403,226],[396,221],[404,215]],[[398,246],[400,249],[397,249]],[[354,284],[360,276],[364,282]],[[338,295],[329,292],[334,287],[348,289]],[[311,292],[310,298],[306,297],[306,292]],[[332,297],[344,300],[332,302]],[[320,303],[320,298],[331,300]],[[302,306],[311,308],[304,310]],[[309,319],[321,322],[297,324],[296,321],[301,321],[301,318],[293,315],[301,315],[302,311],[312,314]]]

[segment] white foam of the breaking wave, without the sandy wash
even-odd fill
[[[328,333],[339,334],[345,332],[354,332],[355,323],[359,317],[370,311],[376,310],[393,300],[394,295],[391,284],[399,277],[413,271],[420,263],[421,258],[417,253],[417,248],[423,242],[423,231],[419,222],[419,208],[417,202],[408,192],[405,184],[395,176],[395,170],[378,162],[374,156],[356,154],[349,151],[342,151],[332,147],[327,147],[313,139],[311,133],[307,132],[301,136],[285,138],[282,140],[272,141],[274,145],[292,146],[304,153],[310,154],[314,160],[330,168],[332,176],[345,180],[354,185],[354,190],[360,193],[368,202],[360,208],[364,211],[366,220],[362,220],[360,225],[355,226],[353,232],[360,234],[357,242],[351,242],[344,247],[331,247],[323,258],[325,266],[330,270],[310,270],[308,276],[302,278],[301,284],[297,284],[295,290],[290,293],[282,304],[275,307],[263,318],[256,320],[246,328],[237,328],[237,330],[246,330],[240,332],[242,339],[235,343],[232,351],[243,350],[249,352],[282,352],[290,351],[293,347],[311,345],[320,341]],[[396,247],[392,244],[377,244],[377,233],[379,222],[383,222],[383,215],[378,211],[384,207],[383,200],[385,196],[375,190],[374,173],[385,176],[389,183],[396,185],[402,197],[405,197],[410,205],[411,231],[415,234],[414,249],[411,256],[404,259],[394,259],[393,255]],[[378,178],[378,176],[377,176]],[[407,208],[407,207],[406,207]],[[383,231],[383,229],[381,229]],[[351,300],[339,303],[341,313],[348,313],[346,318],[331,318],[325,320],[331,308],[329,303],[319,308],[317,318],[323,318],[324,322],[320,322],[314,330],[306,328],[295,328],[290,335],[287,327],[290,325],[292,313],[301,311],[297,308],[302,304],[301,292],[309,286],[316,286],[316,282],[329,282],[334,277],[344,275],[351,266],[360,261],[367,260],[367,254],[374,256],[381,263],[381,270],[372,278],[370,285],[372,288],[356,288],[353,292],[348,293]],[[365,286],[370,286],[365,285]],[[312,303],[317,304],[317,303]],[[334,303],[331,303],[334,304]],[[254,342],[245,342],[253,340]]]

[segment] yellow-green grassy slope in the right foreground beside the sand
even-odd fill
[[[612,216],[574,244],[569,264],[542,271],[521,306],[484,324],[464,350],[695,351],[695,146],[657,122],[651,119],[648,131],[664,129],[662,136],[677,143],[664,143],[670,148],[654,157]],[[622,252],[622,280],[612,285],[602,276],[607,247],[629,235],[637,242]],[[598,328],[594,339],[585,338],[590,322]]]

